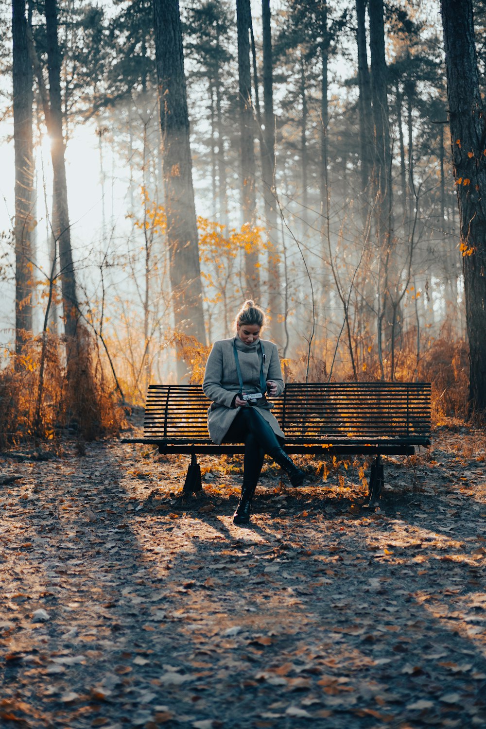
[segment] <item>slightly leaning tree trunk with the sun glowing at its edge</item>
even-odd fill
[[[52,235],[58,241],[60,282],[63,293],[64,329],[68,338],[77,334],[79,306],[71,252],[68,190],[64,162],[63,114],[60,98],[60,52],[58,44],[58,15],[56,0],[45,0],[47,66],[49,71],[50,112],[47,130],[51,139],[53,171]]]

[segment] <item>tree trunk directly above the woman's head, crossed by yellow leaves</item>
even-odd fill
[[[256,223],[254,118],[251,104],[250,0],[236,0],[236,26],[238,31],[238,79],[240,108],[240,160],[241,203],[243,225],[254,227]],[[245,254],[246,295],[256,300],[260,297],[258,253]]]

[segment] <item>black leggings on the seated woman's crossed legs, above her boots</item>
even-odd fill
[[[280,451],[283,438],[273,432],[270,424],[251,405],[241,408],[223,443],[244,443],[243,489],[253,488],[260,475],[265,453]]]

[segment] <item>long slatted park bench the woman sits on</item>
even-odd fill
[[[415,447],[430,445],[430,383],[289,383],[273,402],[288,453],[375,456],[365,507],[383,488],[381,456],[411,456]],[[160,453],[191,456],[181,503],[202,488],[197,454],[244,452],[243,443],[215,445],[210,440],[208,405],[198,385],[150,385],[144,437],[123,440],[156,445]]]

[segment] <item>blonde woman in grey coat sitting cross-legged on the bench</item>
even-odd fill
[[[204,373],[203,391],[212,400],[208,410],[211,440],[218,445],[245,443],[235,524],[250,521],[265,453],[287,472],[292,486],[302,486],[306,477],[283,450],[285,436],[267,401],[267,394],[276,397],[285,385],[277,346],[260,339],[263,324],[262,309],[246,301],[235,319],[235,336],[213,344]]]

